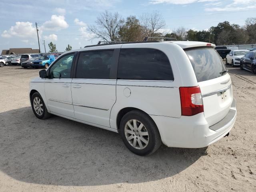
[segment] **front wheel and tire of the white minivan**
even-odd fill
[[[44,101],[38,92],[35,92],[32,95],[30,103],[32,110],[37,118],[47,119],[51,116],[51,114],[48,113]]]

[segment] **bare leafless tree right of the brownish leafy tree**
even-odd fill
[[[144,13],[140,16],[140,25],[145,36],[154,36],[160,29],[165,28],[166,24],[162,14],[154,10],[152,13]]]

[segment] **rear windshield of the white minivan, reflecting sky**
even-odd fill
[[[226,74],[226,67],[213,48],[186,50],[193,66],[197,82],[218,78]]]

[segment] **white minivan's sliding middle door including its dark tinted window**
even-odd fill
[[[71,91],[75,117],[110,127],[109,118],[116,102],[118,50],[80,52]]]

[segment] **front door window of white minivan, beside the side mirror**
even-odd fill
[[[50,78],[71,78],[73,58],[74,54],[68,54],[56,61],[50,68]]]

